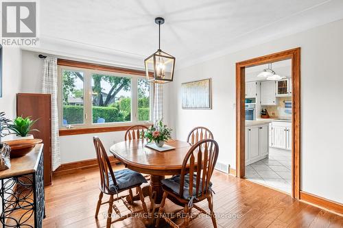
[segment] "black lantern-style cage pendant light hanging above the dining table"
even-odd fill
[[[145,74],[147,81],[164,84],[173,81],[175,57],[161,50],[161,25],[165,19],[157,17],[155,23],[158,25],[158,49],[144,60]]]

